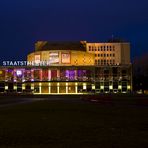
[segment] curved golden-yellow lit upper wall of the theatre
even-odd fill
[[[50,50],[37,51],[27,56],[27,61],[36,61],[35,57],[40,56],[40,61],[49,61],[52,53],[58,53],[59,62],[51,63],[54,65],[94,65],[95,55],[83,51],[68,51],[68,50]],[[68,57],[63,57],[63,54],[68,54]]]

